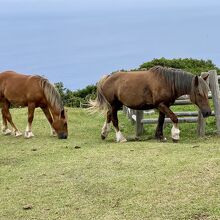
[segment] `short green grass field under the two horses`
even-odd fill
[[[13,109],[26,127],[26,109]],[[50,137],[40,110],[32,139],[0,136],[0,219],[220,219],[220,137],[213,119],[208,135],[181,125],[181,141],[153,139],[145,126],[140,141],[120,113],[130,140],[100,139],[104,117],[69,109],[69,138]]]

